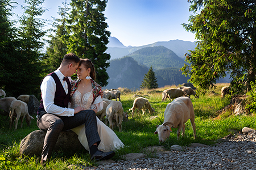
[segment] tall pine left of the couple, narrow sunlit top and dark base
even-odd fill
[[[38,96],[39,84],[43,76],[40,59],[44,55],[42,38],[46,32],[42,31],[44,22],[38,16],[46,11],[41,6],[44,1],[25,0],[24,2],[27,4],[23,7],[24,15],[19,18],[19,28],[18,31],[16,30],[16,35],[13,34],[15,39],[11,42],[12,47],[8,47],[13,53],[1,58],[6,73],[0,79],[0,87],[4,86],[8,96],[14,97],[24,94]]]

